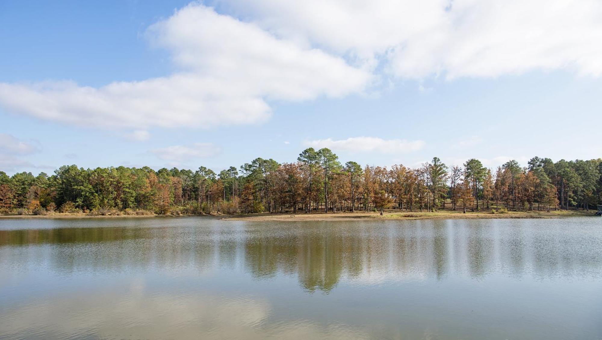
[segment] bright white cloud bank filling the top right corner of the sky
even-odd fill
[[[276,34],[398,77],[602,74],[598,0],[222,0]]]

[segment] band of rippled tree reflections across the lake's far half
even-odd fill
[[[599,276],[602,270],[600,231],[566,231],[558,220],[191,221],[4,230],[0,254],[18,252],[14,259],[23,264],[48,256],[61,273],[242,267],[259,280],[297,276],[309,293],[329,293],[341,279],[377,284],[445,280],[450,272],[483,279],[498,272],[557,277]]]

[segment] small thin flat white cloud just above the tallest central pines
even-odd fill
[[[380,153],[409,153],[424,147],[424,141],[406,141],[405,139],[382,139],[376,137],[353,137],[334,141],[332,138],[306,141],[313,148],[329,148],[336,151]]]

